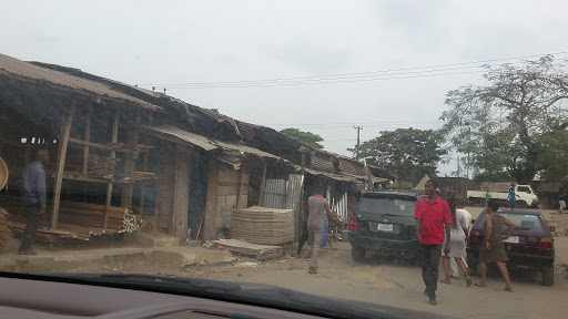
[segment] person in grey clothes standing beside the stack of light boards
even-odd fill
[[[329,203],[320,194],[315,194],[307,198],[307,231],[311,244],[310,249],[310,268],[307,272],[317,274],[317,254],[322,245],[324,236],[324,220],[326,216],[332,219],[335,213],[329,209]]]

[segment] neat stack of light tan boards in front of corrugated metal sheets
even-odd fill
[[[253,244],[283,245],[294,240],[294,210],[253,206],[231,216],[233,238]]]

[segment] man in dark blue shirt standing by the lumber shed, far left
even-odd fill
[[[43,165],[49,163],[49,153],[41,148],[37,152],[37,160],[26,166],[22,174],[22,199],[26,215],[26,230],[19,248],[20,255],[37,255],[31,249],[40,217],[45,214],[45,171]]]

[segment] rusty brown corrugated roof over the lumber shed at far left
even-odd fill
[[[162,110],[162,107],[152,103],[113,91],[102,83],[41,68],[4,54],[0,54],[0,76],[28,82],[44,81],[62,90],[67,89],[78,93],[89,93],[112,100],[122,100],[148,110]]]

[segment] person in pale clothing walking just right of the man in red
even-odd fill
[[[444,245],[446,246],[449,239],[449,253],[446,253],[442,257],[442,265],[444,266],[444,274],[446,278],[442,280],[444,284],[452,284],[450,274],[449,274],[449,259],[454,260],[462,272],[464,272],[464,277],[466,278],[467,287],[471,286],[471,278],[467,274],[467,266],[464,263],[464,248],[467,241],[467,220],[462,213],[457,212],[457,198],[450,197],[448,198],[449,212],[452,213],[452,224],[445,225],[444,227],[449,228],[452,234],[452,238],[444,239]]]

